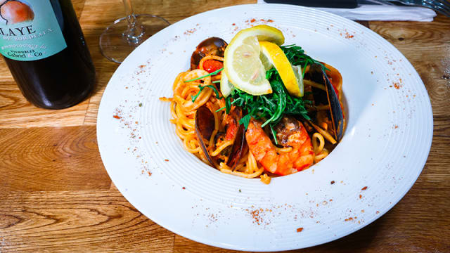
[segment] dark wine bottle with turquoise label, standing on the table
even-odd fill
[[[70,0],[0,0],[0,53],[39,108],[68,108],[94,89],[94,64]]]

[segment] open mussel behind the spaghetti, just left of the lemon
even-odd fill
[[[191,70],[198,68],[198,63],[205,56],[224,56],[226,41],[219,37],[210,37],[198,44],[191,56]]]

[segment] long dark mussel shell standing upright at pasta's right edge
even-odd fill
[[[326,100],[330,105],[330,116],[333,122],[333,130],[335,134],[335,140],[340,141],[344,134],[344,114],[342,112],[342,106],[340,105],[339,96],[333,88],[330,79],[326,75],[325,70],[319,64],[312,64],[309,67],[308,78],[319,84],[326,86]],[[315,102],[323,102],[323,96],[314,96]]]

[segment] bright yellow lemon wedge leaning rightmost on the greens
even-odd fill
[[[278,45],[269,41],[259,41],[259,46],[261,48],[261,58],[267,59],[271,65],[274,65],[276,71],[280,74],[281,81],[283,81],[283,84],[290,95],[296,97],[303,96],[301,68],[299,75],[297,67],[294,69],[294,67],[290,65],[288,58]]]

